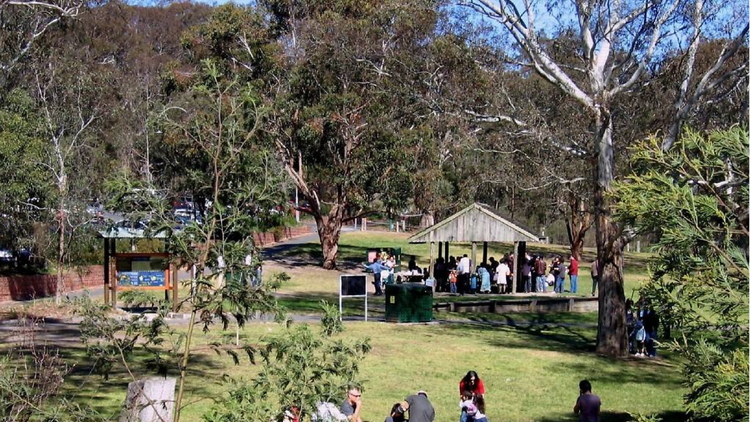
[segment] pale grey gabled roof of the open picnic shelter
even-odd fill
[[[517,241],[539,242],[539,236],[479,203],[471,204],[409,238],[409,243]]]

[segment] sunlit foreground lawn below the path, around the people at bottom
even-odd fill
[[[612,360],[592,353],[595,330],[466,326],[459,324],[393,325],[377,322],[346,324],[345,336],[369,337],[373,350],[361,364],[364,381],[363,416],[385,418],[390,406],[424,389],[430,394],[437,421],[458,417],[458,381],[476,370],[487,388],[490,421],[574,421],[571,409],[578,381],[589,379],[603,403],[602,421],[626,421],[628,413],[656,413],[665,421],[683,420],[685,390],[677,369],[665,360]],[[257,339],[282,330],[272,323],[247,326],[243,336]],[[227,334],[231,334],[227,333]],[[222,337],[220,331],[198,334],[201,349]],[[127,377],[120,371],[105,381],[88,376],[80,349],[67,350],[76,371],[66,381],[77,400],[114,414],[125,396]],[[185,421],[198,421],[212,400],[223,397],[222,375],[250,379],[257,371],[246,359],[203,351],[192,360],[187,380]],[[147,374],[135,365],[133,371]]]

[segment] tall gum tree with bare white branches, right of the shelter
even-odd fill
[[[521,65],[528,66],[541,77],[575,99],[587,111],[595,127],[593,153],[589,157],[590,177],[594,184],[593,205],[596,227],[596,246],[600,268],[599,323],[596,350],[609,356],[627,354],[625,327],[625,294],[623,278],[623,248],[630,234],[611,218],[611,201],[607,195],[615,177],[616,146],[613,136],[613,101],[623,93],[637,89],[648,77],[648,69],[656,56],[680,35],[688,39],[687,44],[700,43],[702,31],[721,24],[721,7],[706,7],[702,1],[656,0],[653,2],[627,0],[573,0],[572,8],[558,2],[543,5],[531,0],[513,2],[509,0],[462,0],[459,4],[471,8],[504,28],[521,50]],[[725,7],[731,8],[729,3]],[[537,14],[540,10],[555,13],[556,10],[573,10],[571,17],[557,16],[558,21],[568,21],[575,29],[579,43],[580,66],[561,66],[548,48],[540,42]],[[710,11],[710,12],[707,12]],[[710,15],[710,19],[707,19]],[[683,20],[684,19],[684,20]],[[694,28],[692,35],[680,28],[688,22]],[[547,28],[545,28],[547,30]],[[689,31],[689,30],[688,30]],[[727,34],[722,54],[712,69],[703,78],[712,80],[724,73],[725,55],[731,57],[747,36],[747,24],[739,31]],[[689,48],[689,47],[688,47]],[[691,63],[688,63],[691,65]],[[686,69],[686,79],[693,75]],[[701,80],[703,79],[701,78]],[[689,84],[688,84],[689,85]],[[690,109],[700,100],[698,88],[692,96],[684,95],[684,107]],[[682,96],[680,98],[683,98]],[[689,101],[695,99],[692,103]],[[692,104],[692,105],[691,105]],[[682,106],[678,110],[682,109]],[[679,120],[686,113],[677,113]],[[679,125],[679,123],[678,123]],[[669,145],[665,145],[666,148]]]

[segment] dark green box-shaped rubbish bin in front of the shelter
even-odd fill
[[[385,320],[388,322],[432,321],[432,287],[417,283],[385,286]]]

